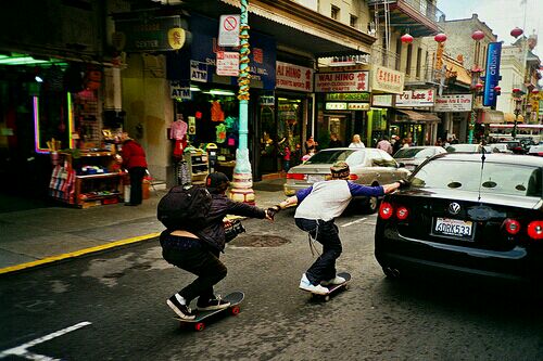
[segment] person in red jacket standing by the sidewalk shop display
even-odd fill
[[[147,171],[146,151],[134,139],[123,132],[123,167],[130,175],[130,202],[125,206],[138,206],[141,204],[141,182]]]

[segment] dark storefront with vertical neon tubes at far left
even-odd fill
[[[103,68],[99,65],[61,59],[46,61],[29,54],[2,55],[2,189],[33,197],[51,195],[51,171],[64,160],[61,153],[79,155],[108,146],[102,131],[118,123],[102,121],[102,78]],[[76,165],[83,166],[83,160]],[[80,167],[74,170],[81,172]],[[101,185],[104,184],[97,186]],[[76,203],[73,195],[63,201]]]

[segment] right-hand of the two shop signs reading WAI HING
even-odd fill
[[[368,91],[368,72],[319,73],[315,75],[315,92]]]

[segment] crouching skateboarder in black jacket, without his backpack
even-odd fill
[[[223,223],[225,216],[273,220],[264,209],[229,199],[225,194],[229,185],[226,175],[210,173],[205,179],[205,185],[213,198],[205,228],[198,232],[165,230],[160,236],[164,259],[198,275],[194,282],[166,300],[174,312],[184,320],[194,319],[189,305],[197,297],[199,310],[218,310],[230,306],[229,302],[216,297],[213,292],[213,285],[223,280],[227,273],[225,265],[218,259],[225,249]]]

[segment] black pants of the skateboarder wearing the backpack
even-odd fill
[[[225,265],[218,259],[219,254],[204,245],[189,249],[162,249],[162,256],[168,263],[198,275],[194,282],[179,291],[187,305],[197,297],[204,300],[214,297],[213,285],[226,278],[227,273]]]

